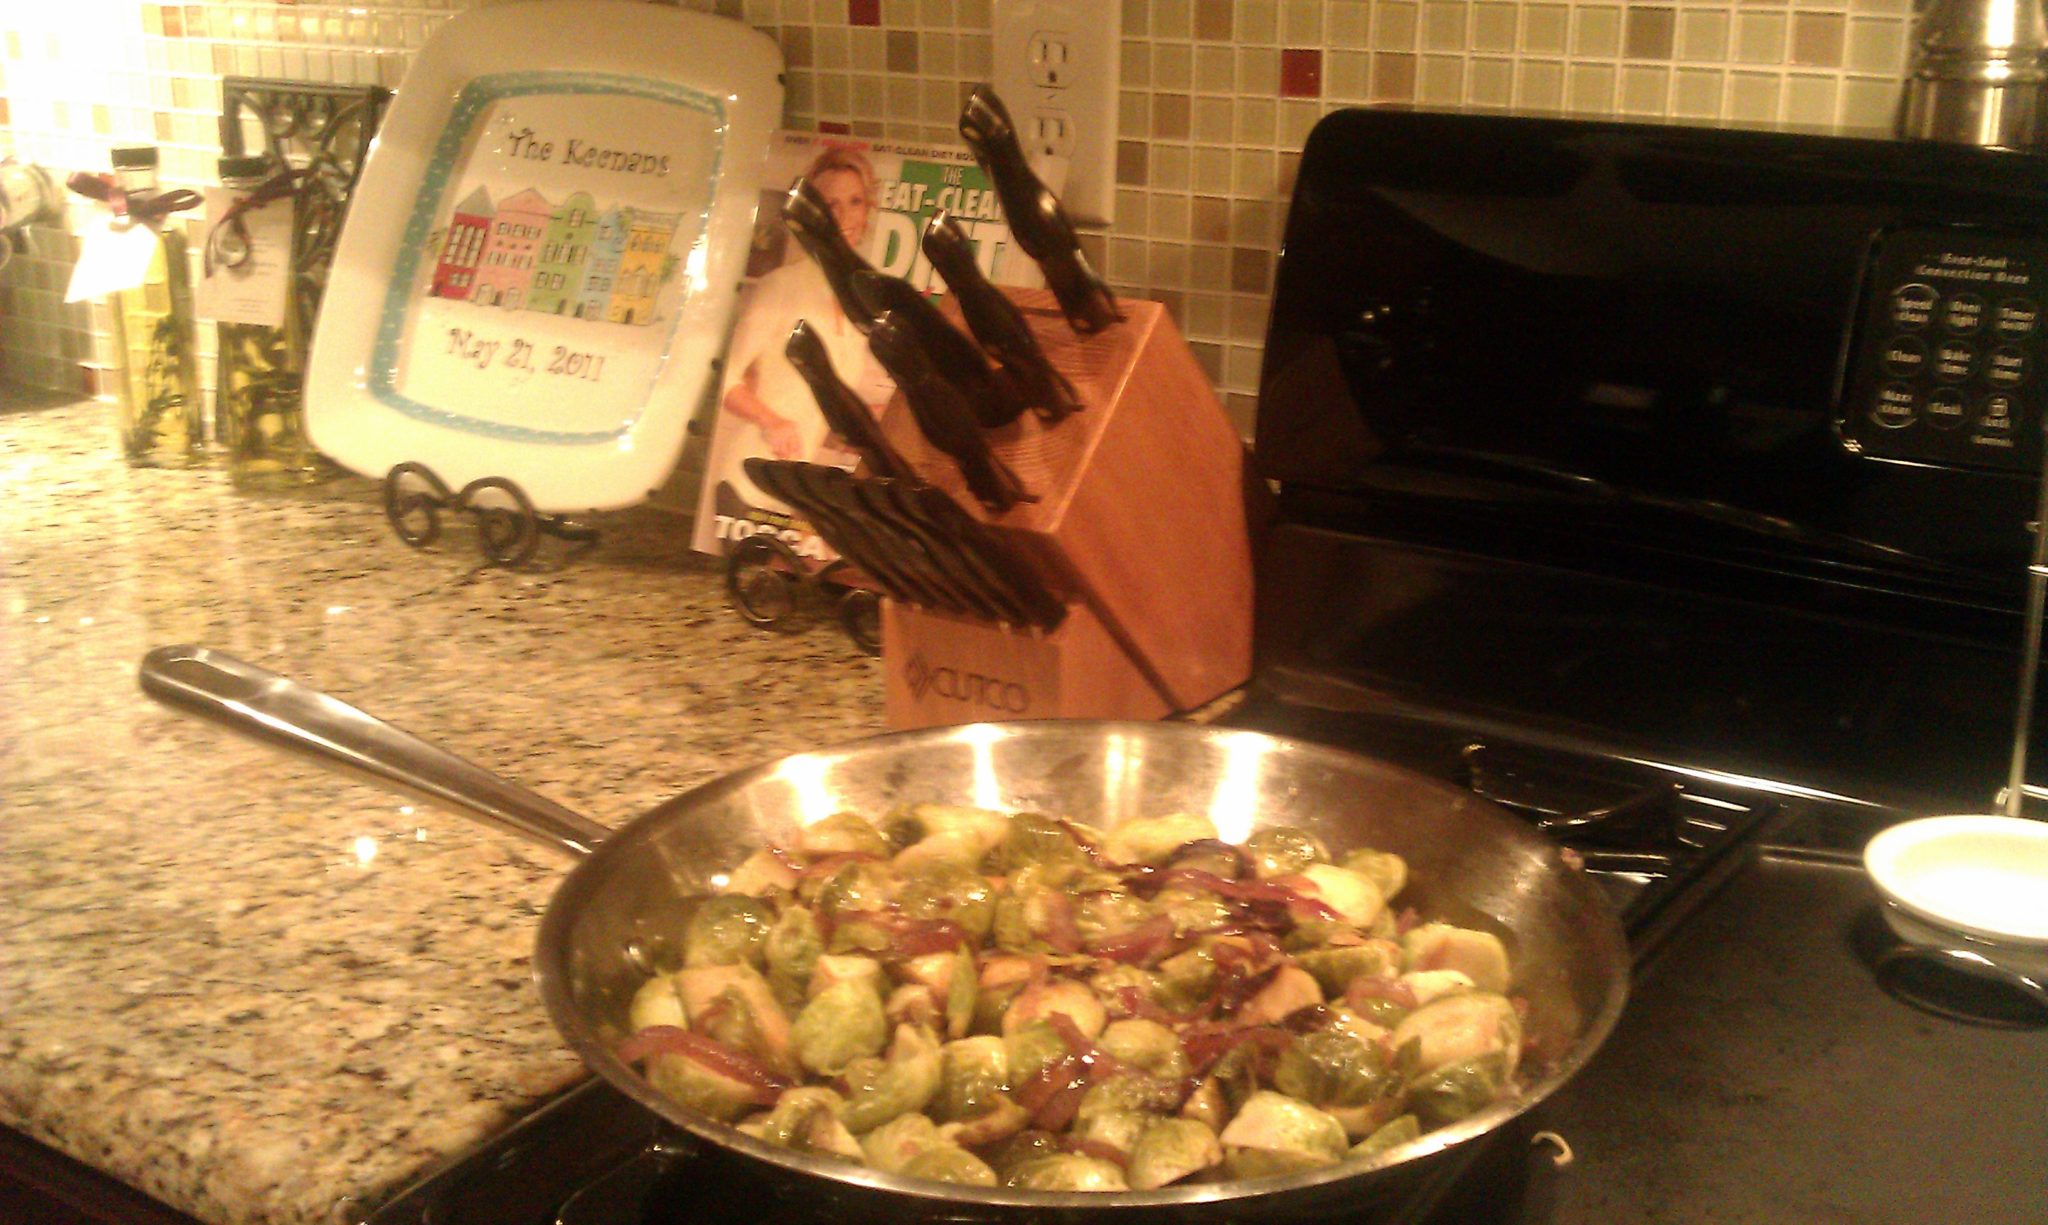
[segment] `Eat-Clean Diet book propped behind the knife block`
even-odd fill
[[[895,393],[868,352],[866,336],[852,326],[823,272],[782,225],[782,201],[799,176],[819,191],[840,231],[864,260],[930,295],[944,293],[946,285],[920,250],[920,236],[938,211],[967,231],[989,281],[1018,287],[1044,283],[1038,264],[1012,242],[995,188],[967,150],[776,133],[713,406],[711,449],[690,539],[698,553],[725,555],[748,537],[772,533],[801,557],[817,563],[834,557],[811,524],[758,490],[743,467],[752,457],[842,469],[858,463],[825,426],[809,385],[782,354],[799,320],[819,336],[840,381],[877,416]]]

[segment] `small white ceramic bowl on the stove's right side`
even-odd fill
[[[1870,840],[1864,869],[1892,905],[1935,928],[2048,946],[2048,821],[1905,821]]]

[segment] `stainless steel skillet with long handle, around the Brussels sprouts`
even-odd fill
[[[332,696],[209,651],[160,647],[141,666],[152,696],[246,733],[367,772],[508,826],[582,862],[541,922],[535,975],[555,1026],[625,1094],[705,1141],[811,1180],[848,1215],[946,1219],[1141,1213],[1174,1221],[1296,1217],[1358,1209],[1405,1186],[1444,1149],[1493,1131],[1571,1080],[1608,1037],[1628,991],[1620,924],[1561,850],[1493,805],[1356,754],[1192,723],[977,723],[877,735],[739,770],[637,817],[594,821],[426,746]],[[1372,1161],[1253,1182],[1155,1192],[963,1188],[879,1174],[743,1137],[653,1092],[612,1051],[645,977],[676,965],[688,897],[752,850],[807,821],[883,813],[907,801],[1065,813],[1100,826],[1169,811],[1208,813],[1231,840],[1298,826],[1333,850],[1376,846],[1409,862],[1403,905],[1501,934],[1528,1000],[1524,1088]]]

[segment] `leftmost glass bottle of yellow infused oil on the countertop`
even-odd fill
[[[129,197],[156,186],[156,150],[113,152],[115,182]],[[121,354],[121,453],[137,467],[186,467],[205,461],[199,410],[199,354],[193,348],[193,266],[184,227],[166,221],[156,236],[150,272],[109,303]]]

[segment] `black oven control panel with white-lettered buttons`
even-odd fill
[[[1864,281],[1841,434],[1880,459],[2036,473],[2048,404],[2048,240],[1884,234]]]

